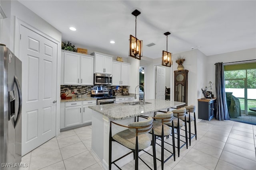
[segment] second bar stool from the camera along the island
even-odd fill
[[[143,115],[140,115],[138,117],[146,118],[146,116],[143,116]],[[155,115],[155,117],[152,117],[152,118],[154,119],[154,121],[153,121],[154,137],[155,137],[154,141],[156,142],[156,139],[161,141],[161,145],[156,143],[156,145],[161,146],[161,159],[159,159],[159,158],[156,158],[156,159],[161,161],[161,167],[162,167],[162,170],[164,170],[164,163],[166,161],[168,161],[172,156],[173,156],[174,161],[175,161],[174,126],[172,126],[172,129],[170,129],[170,127],[165,124],[165,123],[167,123],[167,124],[172,123],[173,115],[172,115],[172,113],[165,113],[165,114]],[[169,135],[172,135],[172,144],[167,143],[166,141],[164,141],[164,137],[168,137]],[[168,145],[172,145],[172,152],[170,150],[164,148],[164,143],[166,143]],[[171,155],[168,156],[168,158],[166,158],[165,160],[164,160],[164,150],[171,153]],[[146,151],[144,151],[144,152],[146,152]],[[148,152],[146,152],[146,153],[148,153]],[[151,155],[151,156],[153,156],[153,155]]]

